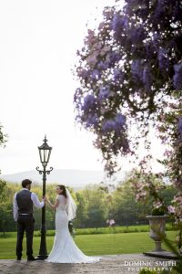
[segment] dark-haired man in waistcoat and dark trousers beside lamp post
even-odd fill
[[[26,255],[27,260],[35,260],[33,256],[33,234],[35,219],[33,216],[33,205],[42,208],[45,205],[45,198],[40,203],[37,195],[30,192],[32,181],[25,179],[22,181],[23,189],[15,194],[14,197],[14,219],[17,222],[17,260],[22,258],[22,243],[24,232],[26,235]]]

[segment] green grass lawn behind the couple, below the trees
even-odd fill
[[[174,240],[176,231],[167,231],[167,238]],[[46,237],[47,252],[53,245],[54,237]],[[133,232],[120,234],[78,235],[76,245],[86,255],[142,253],[155,248],[154,242],[148,237],[148,232]],[[15,258],[15,237],[0,238],[0,258]],[[39,251],[40,237],[34,238],[34,255]],[[165,249],[167,249],[164,245]],[[24,256],[25,257],[25,240]]]

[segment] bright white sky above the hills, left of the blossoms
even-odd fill
[[[86,24],[95,26],[114,0],[0,1],[0,148],[2,174],[33,170],[45,134],[55,169],[103,170],[91,133],[76,125],[71,69]],[[129,170],[128,164],[124,167]]]

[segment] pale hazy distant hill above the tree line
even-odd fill
[[[104,181],[105,174],[102,171],[56,169],[47,175],[49,184],[66,184],[75,189],[83,188],[86,184],[99,184]],[[11,183],[21,183],[25,178],[35,183],[42,183],[42,175],[37,171],[25,171],[17,174],[1,174],[0,178]]]

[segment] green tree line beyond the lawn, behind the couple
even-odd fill
[[[146,216],[151,213],[152,197],[146,205],[136,202],[135,189],[132,187],[132,179],[112,184],[88,184],[84,189],[76,192],[70,189],[76,199],[77,216],[76,227],[106,227],[107,219],[114,219],[115,226],[131,226],[147,224]],[[21,189],[21,184],[12,184],[0,181],[0,231],[15,231],[13,218],[13,198],[15,192]],[[32,191],[41,198],[42,185],[33,184]],[[173,185],[167,185],[162,190],[166,203],[176,194]],[[46,195],[54,203],[56,199],[56,184],[46,185]],[[55,210],[46,205],[46,227],[55,228]],[[40,228],[41,210],[34,208],[35,229]]]

